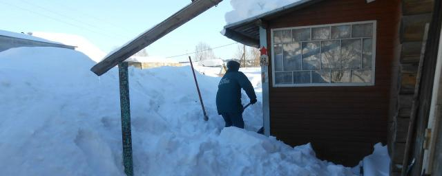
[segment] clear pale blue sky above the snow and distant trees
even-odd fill
[[[189,3],[191,0],[0,0],[0,30],[76,34],[107,53]],[[224,14],[231,10],[230,0],[224,0],[217,7],[207,10],[146,47],[146,50],[151,56],[166,57],[194,52],[195,45],[200,41],[211,47],[235,43],[220,34],[226,25]],[[213,52],[224,59],[232,58],[236,48],[237,45],[229,45]],[[186,56],[177,58],[183,59]]]

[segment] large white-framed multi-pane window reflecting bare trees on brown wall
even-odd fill
[[[376,21],[271,30],[274,87],[374,85]]]

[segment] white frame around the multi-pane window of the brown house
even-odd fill
[[[302,28],[310,28],[310,41],[311,40],[311,28],[318,28],[318,27],[332,27],[337,25],[355,25],[355,24],[364,24],[364,23],[372,23],[373,24],[373,36],[372,36],[372,82],[371,83],[305,83],[305,84],[278,84],[276,85],[275,82],[275,52],[274,52],[274,38],[273,38],[273,32],[276,30],[296,30],[296,29],[302,29]],[[335,87],[335,86],[374,86],[375,78],[376,78],[376,30],[377,30],[377,21],[357,21],[357,22],[349,22],[349,23],[332,23],[332,24],[324,24],[324,25],[305,25],[305,26],[297,26],[297,27],[291,27],[291,28],[273,28],[271,29],[271,75],[272,75],[272,85],[273,87]],[[351,28],[350,28],[351,30]],[[293,34],[293,33],[291,33]],[[330,34],[331,35],[331,34]],[[350,33],[350,36],[352,34]],[[365,37],[362,37],[365,38]],[[293,36],[292,36],[293,39]],[[350,38],[352,39],[352,38]],[[332,39],[330,39],[332,40]],[[321,41],[330,41],[330,40],[321,40]],[[340,39],[342,40],[342,39]],[[293,42],[291,42],[293,43]],[[301,42],[302,43],[302,42]],[[279,44],[279,43],[278,43]],[[284,43],[281,43],[284,44]],[[362,50],[362,48],[361,48]],[[302,59],[302,58],[301,58]],[[361,58],[363,59],[363,58]],[[361,60],[362,62],[362,60]],[[302,65],[301,65],[302,67]],[[363,70],[363,68],[361,68]],[[322,69],[319,69],[318,71],[321,71]],[[332,70],[332,69],[325,69],[325,70]],[[344,70],[344,69],[336,69],[336,70]],[[293,71],[292,71],[293,72]],[[293,76],[292,76],[293,78]],[[351,79],[351,78],[350,78]]]

